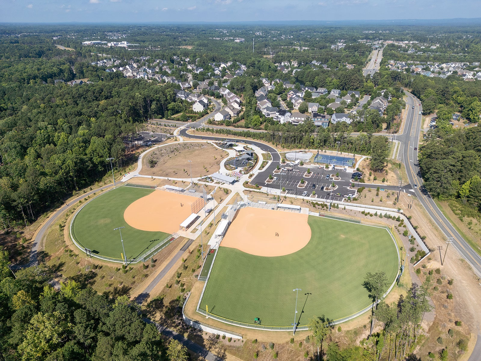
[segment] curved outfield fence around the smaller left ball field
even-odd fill
[[[110,191],[111,190],[103,192],[103,193],[99,194],[98,196],[100,197],[102,194],[105,194],[105,193],[110,192]],[[94,198],[90,199],[89,202],[92,201],[93,199],[96,199],[96,198],[97,197],[94,197]],[[82,243],[76,239],[75,232],[74,232],[75,219],[76,219],[78,213],[82,210],[82,208],[87,206],[89,204],[89,202],[86,202],[85,204],[83,204],[81,207],[79,207],[76,210],[76,212],[74,214],[74,217],[72,218],[72,221],[70,222],[70,239],[72,240],[74,245],[77,246],[78,249],[80,249],[82,252],[84,252],[89,257],[95,257],[95,258],[103,259],[104,261],[109,261],[109,262],[124,263],[125,259],[102,256],[100,254],[94,253],[89,248],[84,247],[82,245]],[[138,263],[138,262],[145,262],[145,261],[149,260],[154,255],[156,255],[161,250],[163,250],[166,246],[170,245],[178,237],[179,237],[179,234],[177,234],[177,233],[172,233],[172,234],[168,235],[167,237],[165,237],[165,239],[163,239],[162,241],[160,241],[159,243],[154,245],[151,249],[147,250],[146,252],[144,252],[139,257],[127,258],[127,263]]]

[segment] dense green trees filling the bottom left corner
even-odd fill
[[[187,360],[127,296],[111,299],[73,280],[55,289],[45,265],[15,274],[9,266],[0,246],[0,360]]]

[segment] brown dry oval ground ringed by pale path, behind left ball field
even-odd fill
[[[220,169],[220,162],[227,155],[226,151],[209,143],[176,143],[154,148],[152,152],[146,154],[142,159],[141,174],[172,178],[203,177],[217,172]]]

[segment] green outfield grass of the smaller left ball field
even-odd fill
[[[140,231],[124,219],[124,211],[132,202],[152,192],[152,189],[119,187],[94,198],[76,216],[73,227],[76,241],[102,256],[121,259],[120,233],[114,228],[125,227],[122,238],[127,259],[137,258],[169,235]]]

